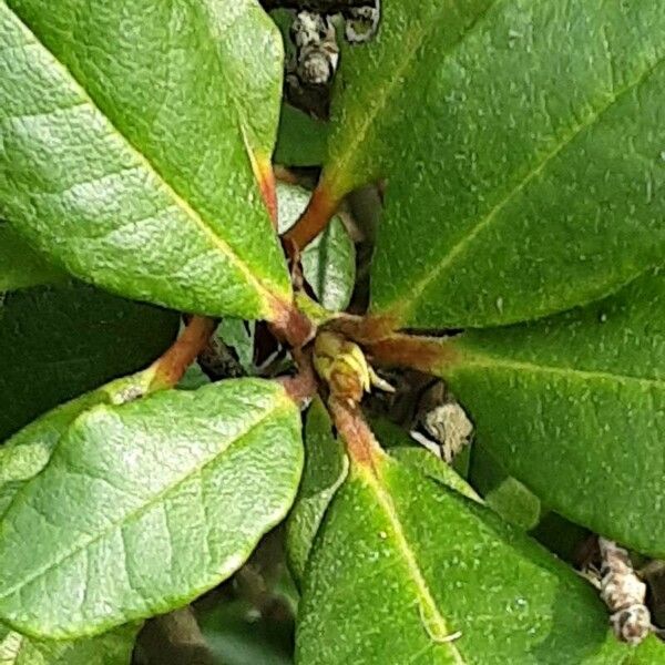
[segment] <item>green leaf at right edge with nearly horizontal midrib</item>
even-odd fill
[[[662,557],[665,273],[528,324],[444,342],[481,446],[550,508]]]

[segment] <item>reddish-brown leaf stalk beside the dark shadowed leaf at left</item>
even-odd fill
[[[153,362],[154,378],[151,389],[173,388],[183,378],[187,367],[205,349],[215,327],[216,321],[213,319],[192,317],[171,348]]]

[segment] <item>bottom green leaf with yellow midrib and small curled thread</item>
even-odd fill
[[[390,458],[351,466],[309,561],[297,662],[618,665],[627,653],[591,585],[491,511]]]

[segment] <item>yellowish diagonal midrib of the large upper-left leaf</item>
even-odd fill
[[[14,11],[9,4],[3,2],[7,7],[8,11],[16,17],[16,20],[20,25],[23,27],[25,32],[34,40],[34,45],[38,45],[45,53],[50,55],[52,65],[55,68],[60,68],[62,73],[66,79],[69,79],[72,83],[72,86],[75,86],[81,99],[85,104],[88,104],[94,112],[99,113],[101,117],[104,119],[104,122],[109,123],[114,133],[122,139],[123,143],[126,145],[129,151],[134,155],[140,166],[145,168],[150,174],[153,175],[158,185],[165,191],[166,195],[174,202],[178,209],[181,209],[185,216],[193,222],[193,224],[211,241],[212,245],[219,250],[235,267],[239,270],[239,273],[245,277],[247,283],[254,287],[259,297],[264,300],[264,314],[270,313],[269,304],[275,298],[275,295],[258,279],[249,266],[234,252],[234,249],[228,245],[222,237],[219,237],[213,227],[201,216],[201,214],[195,211],[192,205],[174,188],[171,183],[166,181],[166,178],[162,175],[160,170],[153,164],[149,157],[141,151],[137,145],[125,135],[125,133],[104,113],[102,108],[93,100],[90,95],[85,86],[79,79],[73,74],[73,72],[62,62],[55,53],[53,53],[37,35],[35,32],[32,31],[30,25]],[[27,44],[28,45],[28,44]],[[24,48],[21,45],[21,48]],[[235,106],[235,100],[234,100]],[[237,109],[236,109],[237,112]],[[241,119],[238,117],[238,123],[242,127]],[[250,158],[250,155],[248,155]]]

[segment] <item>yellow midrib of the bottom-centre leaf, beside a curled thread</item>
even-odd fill
[[[366,480],[367,485],[375,493],[375,497],[377,498],[380,508],[382,509],[385,515],[388,518],[388,522],[390,523],[392,533],[395,535],[396,549],[401,555],[407,566],[407,570],[409,571],[411,580],[416,585],[419,608],[426,606],[430,612],[430,615],[436,620],[437,627],[439,628],[440,633],[442,635],[450,635],[451,632],[448,628],[448,624],[444,617],[439,612],[439,607],[437,606],[432,593],[429,590],[428,583],[424,580],[422,572],[420,571],[420,566],[418,565],[416,555],[409,546],[407,536],[405,535],[401,522],[399,520],[399,515],[397,514],[395,503],[392,502],[392,498],[381,483],[383,479],[380,477],[380,471],[372,466],[371,469],[364,470],[362,478]],[[420,618],[420,621],[422,623],[422,617]],[[450,654],[453,657],[456,665],[467,665],[462,654],[457,648],[453,641],[437,642],[429,634],[429,631],[424,624],[422,625],[422,630],[426,632],[432,645],[446,646],[450,651]]]

